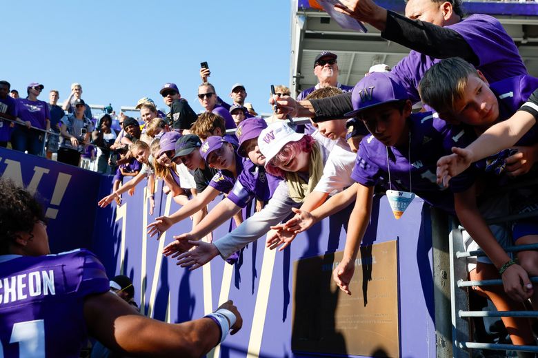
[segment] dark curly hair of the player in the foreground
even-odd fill
[[[0,178],[0,255],[9,253],[17,233],[31,233],[36,220],[45,221],[36,198],[12,180]]]

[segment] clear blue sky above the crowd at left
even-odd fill
[[[196,112],[199,68],[225,100],[243,83],[257,112],[271,84],[289,84],[290,1],[2,1],[1,79],[21,94],[30,82],[63,102],[81,83],[91,104],[165,107],[159,89],[178,85]],[[7,34],[6,34],[7,32]]]

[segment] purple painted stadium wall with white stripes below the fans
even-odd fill
[[[146,238],[146,224],[166,209],[166,196],[160,185],[155,194],[157,207],[153,216],[144,214],[147,206],[143,209],[143,184],[137,187],[134,196],[124,196],[121,207],[114,204],[99,209],[99,198],[110,193],[110,177],[7,149],[0,149],[0,158],[1,175],[17,176],[20,172],[24,185],[37,178],[35,173],[48,170],[34,184],[38,183],[37,190],[45,206],[59,210],[49,226],[54,251],[89,247],[103,261],[110,276],[121,272],[123,257],[123,273],[133,279],[135,299],[143,301],[144,311],[148,313],[150,309],[152,317],[183,322],[204,314],[202,269],[190,272],[179,268],[175,260],[161,256],[157,240]],[[61,202],[54,206],[51,198],[59,173],[71,177]],[[215,202],[218,200],[221,197]],[[179,205],[172,202],[170,212],[177,209]],[[246,357],[249,349],[255,351],[257,347],[259,357],[308,357],[291,351],[293,262],[301,257],[343,250],[346,235],[343,223],[348,221],[349,213],[348,210],[333,215],[299,235],[290,248],[275,254],[274,265],[267,272],[262,272],[262,264],[264,260],[270,262],[271,255],[265,251],[264,238],[242,251],[239,262],[232,268],[228,296],[241,310],[243,329],[226,339],[221,346],[221,357]],[[190,227],[190,220],[184,220],[170,229],[165,242],[170,242],[172,235],[189,231]],[[219,227],[213,233],[214,240],[229,229],[229,224]],[[435,357],[430,218],[424,202],[415,200],[403,217],[395,220],[386,198],[375,200],[364,243],[389,240],[398,240],[401,357]],[[206,292],[210,288],[212,308],[219,302],[225,266],[228,264],[219,257],[210,264],[211,280],[206,280]],[[256,305],[265,307],[262,293],[267,288],[266,310],[261,310],[263,315],[253,322]],[[257,332],[263,332],[259,345],[255,344]]]

